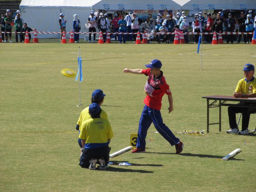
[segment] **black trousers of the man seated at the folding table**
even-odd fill
[[[229,127],[230,129],[237,128],[236,123],[236,113],[242,113],[242,130],[248,129],[249,120],[250,120],[250,108],[243,107],[228,107],[228,118],[229,118]]]

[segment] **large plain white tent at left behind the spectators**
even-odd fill
[[[60,13],[67,20],[66,31],[73,30],[73,15],[78,14],[81,29],[90,16],[92,5],[100,0],[22,0],[20,3],[21,17],[28,27],[37,31],[60,31],[58,19]],[[80,35],[81,36],[81,35]],[[59,34],[39,34],[39,38],[60,38]],[[81,36],[80,38],[83,38]]]

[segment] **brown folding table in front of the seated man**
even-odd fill
[[[234,96],[223,96],[223,95],[211,95],[211,96],[203,96],[202,98],[207,99],[207,132],[209,133],[209,125],[217,125],[219,124],[219,131],[221,131],[221,106],[233,106],[233,107],[246,107],[256,109],[256,105],[252,105],[252,103],[256,104],[256,99],[249,98],[236,98]],[[209,103],[209,100],[213,100],[213,102]],[[219,101],[219,103],[217,103]],[[227,103],[227,101],[232,102],[243,102],[239,104]],[[248,104],[247,104],[248,103]],[[218,123],[209,123],[209,108],[219,108],[219,122]]]

